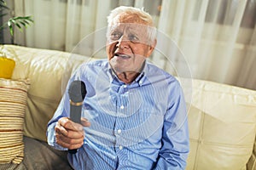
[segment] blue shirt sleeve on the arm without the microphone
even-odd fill
[[[189,155],[186,104],[179,84],[173,90],[171,93],[171,105],[164,118],[162,147],[154,169],[185,169]]]

